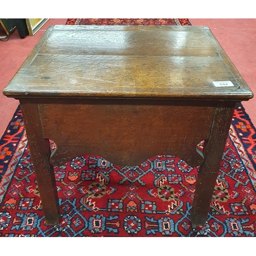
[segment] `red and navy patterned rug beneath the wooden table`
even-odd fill
[[[187,19],[69,19],[67,23],[123,25],[125,20],[126,25],[190,25]],[[255,133],[242,104],[237,104],[201,230],[190,224],[198,168],[172,156],[119,167],[99,156],[84,155],[55,167],[61,224],[47,226],[18,108],[0,141],[0,237],[254,237]]]

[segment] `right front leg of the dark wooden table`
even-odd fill
[[[227,135],[234,111],[234,102],[218,103],[210,138],[205,142],[204,163],[199,168],[197,186],[191,209],[191,223],[202,227],[207,220],[210,202],[219,173]]]

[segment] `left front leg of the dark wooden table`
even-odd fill
[[[19,101],[46,224],[57,225],[59,203],[54,170],[49,162],[49,139],[45,139],[42,133],[38,104],[22,99]]]

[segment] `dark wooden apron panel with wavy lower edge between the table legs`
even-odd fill
[[[197,144],[209,138],[216,103],[178,100],[88,99],[39,103],[42,131],[56,143],[53,165],[98,155],[135,166],[156,155],[198,166]]]

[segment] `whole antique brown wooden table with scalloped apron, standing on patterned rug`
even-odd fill
[[[210,30],[193,26],[50,27],[4,94],[22,108],[47,224],[59,223],[53,165],[173,155],[200,165],[194,226],[207,219],[234,106],[253,97]]]

